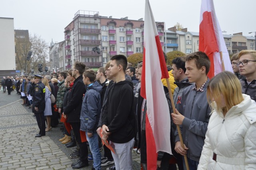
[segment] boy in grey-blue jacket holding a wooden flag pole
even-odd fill
[[[176,130],[175,150],[179,154],[187,156],[190,170],[196,170],[211,112],[206,98],[210,60],[205,53],[198,51],[185,58],[185,67],[188,81],[195,85],[187,87],[182,93],[182,98],[176,109],[178,115],[172,113],[173,122],[176,125],[182,125],[185,148],[182,148]]]

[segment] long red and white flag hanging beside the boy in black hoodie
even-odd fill
[[[170,112],[161,78],[169,78],[156,22],[146,0],[144,52],[140,95],[147,100],[146,143],[148,170],[156,170],[157,152],[172,154]]]

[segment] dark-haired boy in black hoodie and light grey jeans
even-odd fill
[[[115,78],[111,86],[106,109],[102,111],[103,140],[109,138],[116,170],[132,170],[132,148],[134,146],[135,117],[133,114],[133,84],[125,79],[127,58],[115,55],[108,68]]]

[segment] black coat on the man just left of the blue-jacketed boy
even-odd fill
[[[65,115],[68,115],[67,122],[80,122],[80,114],[83,102],[83,96],[86,93],[86,88],[83,82],[83,77],[80,75],[74,81],[74,85],[70,89],[68,95],[68,105],[65,108]]]

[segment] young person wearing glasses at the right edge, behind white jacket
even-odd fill
[[[240,74],[245,77],[240,79],[242,84],[242,93],[249,95],[252,100],[256,101],[256,51],[242,50],[238,54]]]

